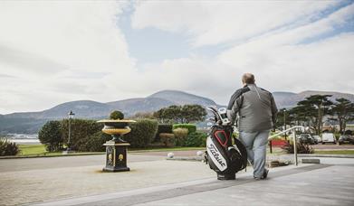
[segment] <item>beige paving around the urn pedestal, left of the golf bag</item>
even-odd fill
[[[121,192],[215,175],[206,164],[186,161],[131,162],[131,171],[126,173],[102,173],[102,167],[100,164],[2,172],[0,205]]]

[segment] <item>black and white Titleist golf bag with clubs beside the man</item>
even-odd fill
[[[214,125],[206,138],[206,163],[217,173],[218,180],[234,180],[235,173],[247,165],[246,149],[233,137],[234,129],[226,117],[226,109],[208,109],[215,117]]]

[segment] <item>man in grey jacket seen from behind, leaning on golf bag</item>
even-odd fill
[[[266,145],[270,130],[276,120],[277,108],[271,92],[255,85],[254,75],[245,73],[244,88],[234,92],[227,107],[227,117],[237,126],[240,141],[247,150],[248,161],[254,167],[254,178],[265,179]]]

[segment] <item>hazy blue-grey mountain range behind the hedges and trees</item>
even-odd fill
[[[273,97],[278,108],[292,108],[296,103],[311,95],[332,95],[330,98],[347,98],[354,102],[354,95],[340,92],[328,91],[302,91],[292,92],[273,92]],[[204,98],[178,90],[162,90],[146,98],[129,98],[119,101],[101,103],[91,100],[79,100],[62,103],[53,108],[39,112],[17,112],[8,115],[0,115],[0,134],[6,133],[37,133],[39,128],[50,119],[62,119],[68,117],[68,112],[72,110],[78,118],[107,118],[112,110],[121,110],[126,117],[132,116],[137,112],[156,111],[170,105],[199,104],[206,106],[220,106],[210,98]]]

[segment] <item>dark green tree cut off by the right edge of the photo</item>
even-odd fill
[[[343,134],[347,127],[347,122],[354,120],[354,103],[346,98],[336,98],[332,112],[337,116],[340,123],[340,134]]]

